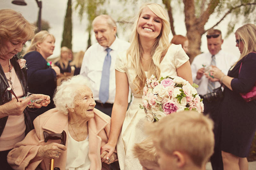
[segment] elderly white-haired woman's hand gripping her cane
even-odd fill
[[[66,151],[67,148],[63,144],[51,143],[44,146],[41,146],[38,151],[36,157],[43,159],[55,159],[59,158],[61,153]]]

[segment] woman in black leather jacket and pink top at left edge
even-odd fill
[[[0,10],[0,169],[12,169],[7,161],[8,152],[31,130],[26,107],[47,106],[50,97],[28,95],[27,72],[24,59],[18,52],[34,36],[36,27],[13,10]],[[23,97],[23,98],[22,98]],[[33,102],[33,103],[32,103]]]

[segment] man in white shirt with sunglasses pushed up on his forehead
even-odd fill
[[[206,38],[209,52],[197,55],[191,63],[193,81],[199,86],[197,92],[201,96],[207,93],[211,94],[213,89],[220,87],[218,79],[212,77],[209,72],[211,67],[218,67],[223,73],[227,74],[228,69],[237,61],[237,57],[221,50],[223,39],[220,30],[210,29],[207,32]],[[215,146],[214,153],[211,157],[213,170],[223,170],[220,134],[217,133],[220,127],[218,124],[220,115],[217,109],[220,106],[220,102],[221,100],[218,99],[214,101],[208,99],[203,100],[204,114],[209,114],[214,121]]]

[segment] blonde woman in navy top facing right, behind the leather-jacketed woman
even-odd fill
[[[36,116],[54,108],[53,93],[56,89],[56,76],[60,75],[60,68],[47,64],[47,57],[52,55],[55,38],[47,31],[36,33],[24,56],[28,67],[28,89],[32,93],[42,93],[50,96],[51,103],[35,112],[29,112],[33,121]]]

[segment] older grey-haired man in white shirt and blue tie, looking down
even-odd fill
[[[130,43],[117,38],[116,22],[108,15],[94,18],[92,27],[98,43],[85,52],[80,74],[89,78],[95,108],[111,116],[116,94],[116,56],[125,51]]]

